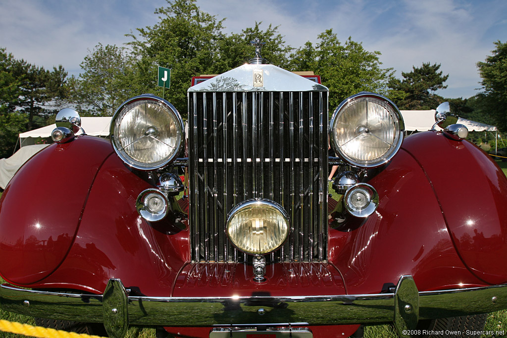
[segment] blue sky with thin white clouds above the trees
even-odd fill
[[[96,44],[122,45],[125,34],[157,22],[165,0],[2,0],[0,47],[15,58],[52,68],[62,64],[78,75]],[[201,10],[226,18],[226,32],[255,21],[279,25],[286,42],[300,47],[333,28],[369,51],[382,53],[384,67],[402,71],[423,62],[441,63],[449,74],[444,97],[469,97],[480,88],[476,63],[507,40],[507,1],[461,0],[198,0]]]

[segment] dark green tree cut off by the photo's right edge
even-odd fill
[[[482,78],[483,92],[477,95],[501,131],[507,131],[507,43],[497,41],[493,55],[487,56],[477,67]]]

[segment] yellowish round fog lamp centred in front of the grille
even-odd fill
[[[239,250],[256,255],[278,249],[290,229],[288,215],[276,202],[253,199],[236,205],[227,217],[227,236]]]

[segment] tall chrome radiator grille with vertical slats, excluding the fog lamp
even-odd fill
[[[246,261],[225,222],[239,202],[264,198],[289,215],[271,262],[327,258],[327,92],[189,93],[192,259]]]

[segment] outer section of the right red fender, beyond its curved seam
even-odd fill
[[[408,137],[403,147],[420,163],[464,264],[486,283],[507,281],[507,179],[468,141],[437,132]]]

